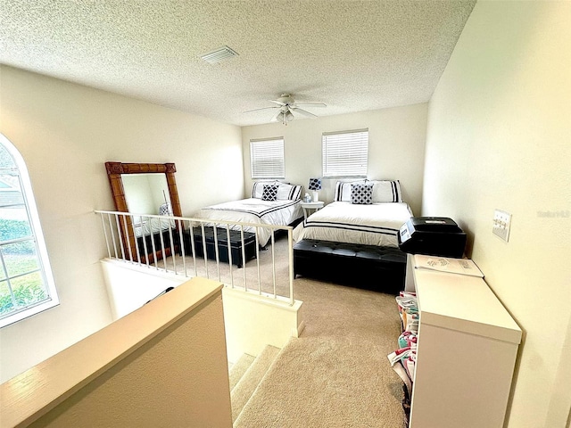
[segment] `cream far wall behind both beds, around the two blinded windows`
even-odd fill
[[[427,104],[377,111],[294,119],[242,128],[245,193],[252,193],[250,140],[283,136],[285,179],[307,189],[310,177],[321,177],[321,136],[324,132],[368,128],[368,178],[401,180],[403,199],[420,212],[424,170]],[[319,200],[331,202],[336,179],[323,181]]]

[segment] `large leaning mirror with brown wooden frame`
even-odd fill
[[[174,163],[105,162],[105,169],[115,210],[182,217],[175,179],[177,168]],[[153,221],[156,219],[145,216],[128,216],[124,221],[123,218],[120,220],[120,235],[126,258],[137,261],[138,248],[141,263],[146,263],[147,259],[149,263],[156,263],[178,250],[178,221]]]

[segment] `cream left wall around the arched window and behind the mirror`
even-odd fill
[[[99,259],[103,162],[175,162],[183,214],[244,191],[240,128],[0,68],[0,132],[27,162],[61,304],[0,331],[0,382],[111,322]],[[216,188],[216,193],[209,191]]]

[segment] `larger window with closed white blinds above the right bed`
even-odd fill
[[[367,177],[368,129],[323,133],[323,177]]]

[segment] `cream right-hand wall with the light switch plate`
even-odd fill
[[[525,332],[517,428],[566,426],[571,406],[570,22],[568,2],[478,2],[429,104],[423,214],[468,231]],[[494,209],[513,216],[509,243]]]

